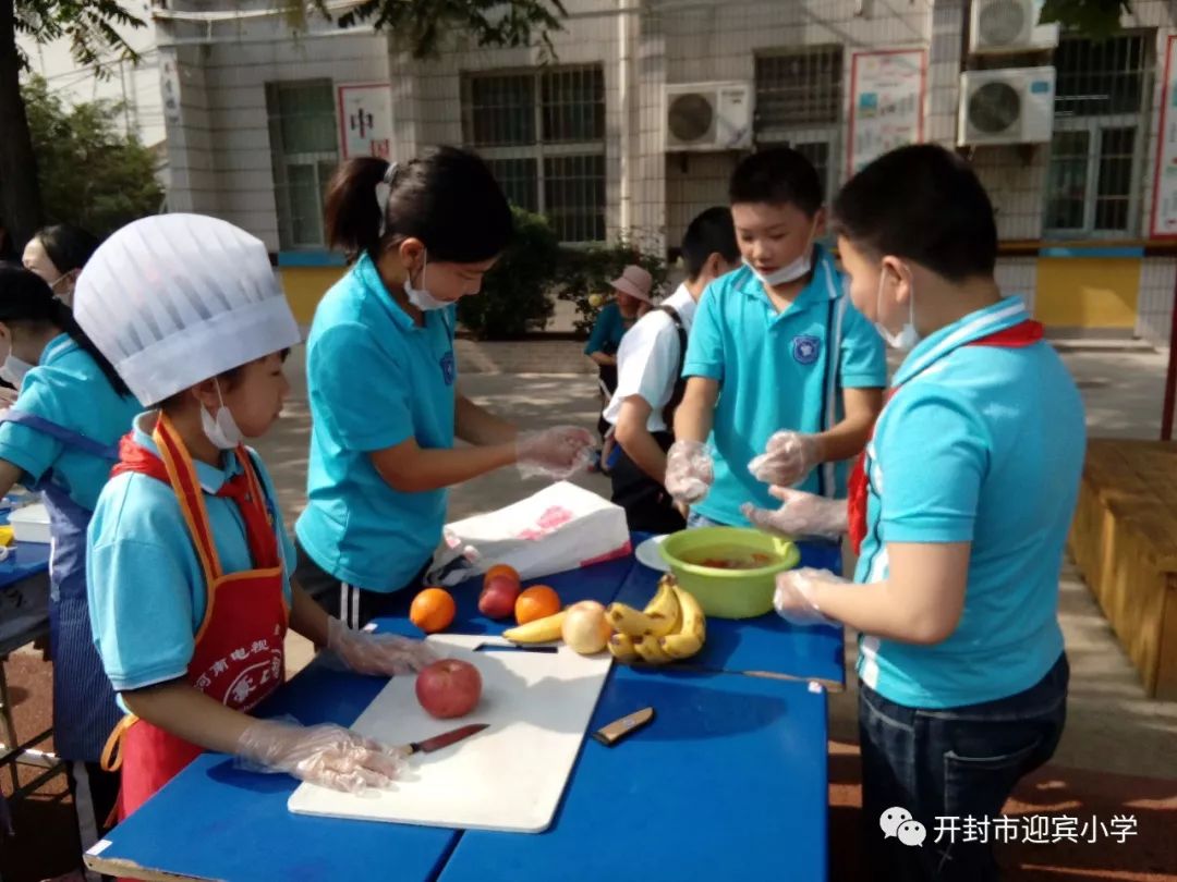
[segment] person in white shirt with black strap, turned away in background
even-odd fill
[[[666,450],[685,388],[683,359],[694,309],[712,281],[739,266],[731,209],[696,216],[683,236],[681,258],[686,281],[621,339],[617,389],[604,413],[620,448],[610,470],[612,500],[632,530],[673,533],[686,526],[663,487]]]

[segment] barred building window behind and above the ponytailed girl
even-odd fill
[[[468,74],[463,136],[507,198],[564,242],[605,239],[605,78],[600,67]]]

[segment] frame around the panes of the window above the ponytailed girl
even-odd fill
[[[578,140],[578,141],[545,141],[544,140],[544,78],[550,75],[559,75],[564,73],[583,73],[585,75],[596,75],[599,78],[600,83],[600,138],[590,140]],[[533,138],[530,142],[511,143],[511,145],[494,145],[494,146],[480,146],[474,141],[474,102],[473,102],[473,85],[479,79],[484,78],[531,78],[532,79],[532,133]],[[567,158],[585,158],[591,159],[594,162],[599,161],[601,165],[601,178],[600,178],[600,189],[601,199],[599,205],[585,206],[586,209],[591,208],[592,215],[585,213],[585,218],[592,216],[594,219],[593,223],[599,223],[600,226],[600,238],[599,239],[561,239],[560,243],[570,247],[588,247],[592,245],[599,245],[607,240],[609,238],[609,152],[607,152],[607,120],[605,119],[607,112],[609,91],[605,87],[605,69],[604,65],[597,64],[577,64],[577,65],[560,65],[558,67],[512,67],[512,68],[493,68],[493,69],[477,69],[477,71],[463,71],[461,72],[461,133],[463,143],[471,151],[478,153],[488,163],[494,163],[496,161],[532,161],[534,166],[534,185],[531,191],[534,193],[536,202],[534,206],[520,206],[527,211],[534,211],[537,214],[541,214],[551,220],[551,207],[548,206],[548,185],[554,182],[574,180],[574,179],[563,179],[552,178],[548,180],[547,165],[548,160],[556,159],[567,159]],[[596,102],[594,102],[596,103]],[[503,182],[500,181],[500,186]],[[506,187],[504,187],[506,189]],[[554,226],[554,225],[553,225]],[[559,230],[557,230],[559,235]]]

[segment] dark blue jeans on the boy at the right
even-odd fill
[[[992,821],[1017,782],[1055,753],[1066,720],[1066,655],[1025,691],[958,708],[911,708],[859,684],[863,826],[876,878],[997,880],[990,833],[964,842],[964,818]],[[923,846],[884,836],[880,818],[906,809],[924,824]],[[956,818],[937,838],[937,818]],[[950,822],[944,822],[945,826]],[[953,841],[955,840],[955,841]]]

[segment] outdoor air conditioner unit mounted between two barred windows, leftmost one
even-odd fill
[[[666,86],[665,96],[667,153],[752,146],[751,83],[676,83]]]

